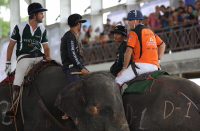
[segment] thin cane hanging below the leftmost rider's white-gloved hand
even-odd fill
[[[12,110],[13,112],[14,110],[14,101],[13,101],[13,90],[12,90],[12,86],[11,86],[11,80],[10,80],[10,73],[8,72],[8,81],[9,81],[9,87],[10,87],[10,99],[12,102]],[[18,127],[17,127],[17,121],[16,121],[16,114],[14,113],[14,123],[15,123],[15,130],[18,131]]]

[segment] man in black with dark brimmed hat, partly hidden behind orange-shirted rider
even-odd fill
[[[122,25],[118,25],[114,28],[110,33],[114,34],[114,40],[118,43],[119,47],[116,51],[116,60],[115,63],[110,67],[110,73],[113,76],[117,76],[117,74],[122,70],[124,65],[124,54],[126,52],[127,41],[126,40],[126,28]]]

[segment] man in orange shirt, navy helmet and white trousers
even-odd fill
[[[143,15],[140,11],[130,11],[127,20],[131,32],[123,69],[115,79],[118,86],[132,80],[137,75],[158,70],[160,59],[165,51],[165,43],[160,37],[142,24]],[[133,63],[129,65],[131,57]]]

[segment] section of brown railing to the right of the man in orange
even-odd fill
[[[197,23],[174,26],[159,31],[160,33],[157,34],[166,44],[165,53],[200,48],[200,25]]]

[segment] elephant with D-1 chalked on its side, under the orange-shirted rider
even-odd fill
[[[124,94],[123,104],[131,131],[200,130],[200,87],[185,78],[163,75],[143,94]]]

